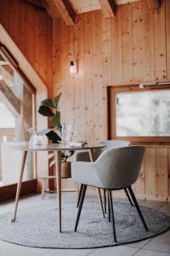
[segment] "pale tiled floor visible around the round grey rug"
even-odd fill
[[[54,195],[53,195],[54,196]],[[77,196],[75,193],[65,193],[67,196]],[[90,196],[90,195],[89,195]],[[97,199],[98,200],[98,199]],[[116,200],[118,201],[118,200]],[[121,201],[121,200],[119,200]],[[125,201],[125,200],[122,200]],[[20,210],[24,207],[41,204],[40,195],[31,195],[20,201]],[[139,201],[139,204],[144,207],[158,209],[161,212],[166,212],[170,215],[170,202],[164,201]],[[0,204],[0,214],[13,210],[14,202],[7,201]],[[24,236],[24,234],[23,234]],[[84,250],[60,250],[60,249],[43,249],[17,246],[12,243],[0,241],[1,256],[116,256],[116,255],[137,255],[137,256],[170,256],[170,230],[161,236],[155,238],[135,242],[127,246],[105,247],[99,249],[84,249]]]

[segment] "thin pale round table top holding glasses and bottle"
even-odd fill
[[[15,143],[10,148],[14,150],[20,151],[61,151],[61,150],[87,150],[87,149],[94,149],[94,148],[104,148],[105,144],[94,143],[94,144],[87,144],[84,147],[70,147],[69,145],[61,145],[59,143],[49,143],[43,145],[30,145],[29,143],[20,144]]]

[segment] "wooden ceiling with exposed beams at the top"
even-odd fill
[[[116,15],[116,6],[120,4],[133,3],[139,0],[28,0],[44,7],[48,15],[53,19],[62,17],[67,26],[73,26],[78,19],[78,14],[102,9],[105,18]],[[161,0],[144,0],[148,3],[148,8],[159,9]]]

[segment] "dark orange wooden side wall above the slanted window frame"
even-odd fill
[[[0,0],[0,23],[43,82],[51,88],[53,26],[48,14],[20,0]]]

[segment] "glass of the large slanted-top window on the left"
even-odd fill
[[[25,83],[0,55],[0,186],[17,183],[21,152],[11,150],[14,143],[29,141],[33,126],[33,95]],[[29,152],[23,180],[31,180],[33,156]]]

